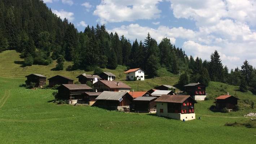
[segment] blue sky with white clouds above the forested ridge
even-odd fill
[[[149,32],[165,37],[188,56],[210,60],[217,50],[234,69],[247,60],[256,66],[256,0],[43,0],[78,31],[105,25],[133,42]]]

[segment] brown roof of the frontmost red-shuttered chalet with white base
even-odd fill
[[[158,99],[156,99],[156,102],[174,102],[174,103],[183,103],[185,100],[187,100],[190,97],[190,95],[162,95]],[[191,97],[192,100],[194,100]],[[195,100],[194,100],[195,101]],[[196,101],[195,101],[196,102]]]

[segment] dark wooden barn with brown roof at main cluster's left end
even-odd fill
[[[62,99],[82,99],[84,92],[91,92],[92,88],[86,84],[62,84],[58,87],[58,95]]]

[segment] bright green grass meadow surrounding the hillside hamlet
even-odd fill
[[[256,128],[224,126],[226,122],[243,123],[250,118],[243,117],[248,112],[256,112],[243,102],[238,112],[219,113],[208,108],[213,100],[195,104],[196,117],[192,121],[178,121],[150,114],[122,113],[89,106],[57,105],[54,90],[28,90],[19,87],[24,76],[40,73],[51,77],[62,74],[70,78],[84,71],[51,71],[50,66],[33,65],[20,67],[14,61],[22,61],[15,51],[0,53],[0,143],[246,143],[256,141]],[[19,62],[16,62],[19,63]],[[65,67],[71,63],[66,62]],[[125,68],[108,70],[122,80]],[[106,69],[107,70],[107,69]],[[177,83],[178,76],[160,70],[165,76],[162,84]],[[90,72],[86,72],[90,73]],[[91,72],[92,73],[92,72]],[[136,90],[136,82],[126,82]],[[159,83],[159,78],[139,82],[140,90],[148,90]],[[208,96],[214,97],[230,92],[237,94],[240,101],[256,101],[251,92],[241,93],[238,87],[210,82]]]

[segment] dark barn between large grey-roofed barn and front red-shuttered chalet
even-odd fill
[[[133,99],[133,104],[131,105],[131,111],[139,113],[155,113],[156,112],[156,102],[157,97],[155,96],[141,96]]]

